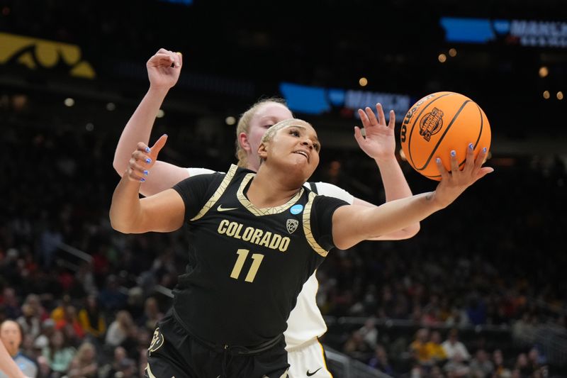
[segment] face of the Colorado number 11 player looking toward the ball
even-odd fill
[[[307,180],[319,165],[320,143],[315,129],[309,123],[294,121],[278,130],[269,146],[268,159],[301,172]]]

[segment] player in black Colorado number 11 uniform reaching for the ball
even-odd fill
[[[159,152],[167,137],[152,147]],[[283,330],[306,279],[332,248],[347,249],[426,218],[492,172],[468,150],[459,171],[437,163],[442,181],[430,193],[375,209],[316,196],[303,183],[319,162],[320,144],[305,121],[272,126],[262,138],[257,174],[232,166],[140,199],[151,163],[139,143],[113,194],[111,223],[123,233],[186,226],[189,265],[174,305],[159,323],[148,377],[286,377]]]

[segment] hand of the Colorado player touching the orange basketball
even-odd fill
[[[492,167],[483,167],[488,151],[483,148],[474,158],[473,144],[469,144],[466,149],[466,161],[462,170],[459,169],[459,157],[455,151],[451,151],[451,172],[447,171],[437,158],[435,163],[441,173],[441,182],[434,191],[434,200],[443,208],[449,206],[466,188],[474,184],[486,174],[493,172]]]

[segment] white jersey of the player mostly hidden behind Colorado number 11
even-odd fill
[[[190,176],[215,172],[206,168],[187,168],[187,170]],[[352,194],[333,184],[317,182],[315,185],[318,194],[342,199],[349,204],[352,204],[354,201]],[[311,189],[308,183],[305,183],[304,186]],[[320,337],[327,331],[327,325],[325,324],[325,320],[321,315],[321,311],[315,299],[318,288],[319,282],[317,281],[317,277],[315,277],[315,273],[313,273],[305,284],[303,284],[303,289],[301,289],[297,297],[297,304],[289,314],[288,328],[283,333],[283,336],[286,338],[286,349],[297,348],[303,343]]]

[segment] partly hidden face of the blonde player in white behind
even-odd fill
[[[283,104],[277,102],[266,102],[260,106],[258,111],[250,120],[248,130],[248,143],[251,150],[249,151],[248,167],[250,169],[258,169],[258,147],[262,141],[262,137],[271,126],[279,121],[293,118],[291,111]]]

